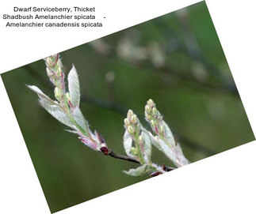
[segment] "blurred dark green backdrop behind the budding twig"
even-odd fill
[[[191,162],[254,140],[204,2],[60,54],[66,73],[78,69],[83,114],[115,152],[126,112],[143,122],[149,98]],[[148,178],[124,175],[136,163],[87,148],[39,106],[25,84],[53,97],[43,60],[1,76],[51,212]],[[171,165],[156,149],[152,159]]]

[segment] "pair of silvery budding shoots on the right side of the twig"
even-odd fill
[[[151,145],[163,152],[176,167],[189,164],[189,160],[183,155],[180,145],[174,140],[170,127],[162,119],[162,115],[156,109],[152,99],[149,99],[145,106],[145,118],[151,125],[153,133],[141,125],[131,110],[128,111],[127,118],[124,119],[124,150],[128,156],[139,160],[139,163],[142,164],[136,169],[124,172],[134,176],[143,175],[147,172],[164,173],[163,167],[159,167],[151,161]]]

